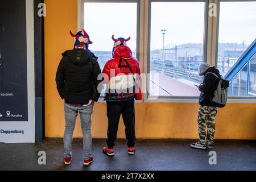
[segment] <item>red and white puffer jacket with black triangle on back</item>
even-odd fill
[[[134,79],[139,81],[141,76],[141,67],[139,61],[135,59],[131,53],[131,49],[127,46],[119,46],[114,51],[114,58],[109,60],[102,73],[108,75],[108,80],[104,82],[108,84],[109,93],[106,93],[107,101],[122,101],[134,99],[141,100],[141,93],[135,94],[127,90],[134,88],[138,92],[138,84]],[[136,86],[135,86],[136,85]],[[110,91],[114,90],[114,91]]]

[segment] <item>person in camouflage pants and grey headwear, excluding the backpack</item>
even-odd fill
[[[203,63],[199,66],[199,75],[204,76],[204,81],[198,86],[201,94],[199,97],[198,131],[199,142],[191,144],[192,148],[206,149],[213,148],[213,138],[215,133],[215,118],[218,108],[211,104],[214,92],[217,89],[218,79],[221,78],[217,68]],[[206,131],[207,127],[207,131]]]

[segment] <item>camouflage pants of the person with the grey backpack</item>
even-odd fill
[[[199,132],[199,139],[202,144],[213,144],[215,134],[215,118],[218,108],[212,106],[200,106],[197,126]]]

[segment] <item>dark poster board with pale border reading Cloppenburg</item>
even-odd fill
[[[34,142],[33,26],[32,1],[0,1],[0,142]]]

